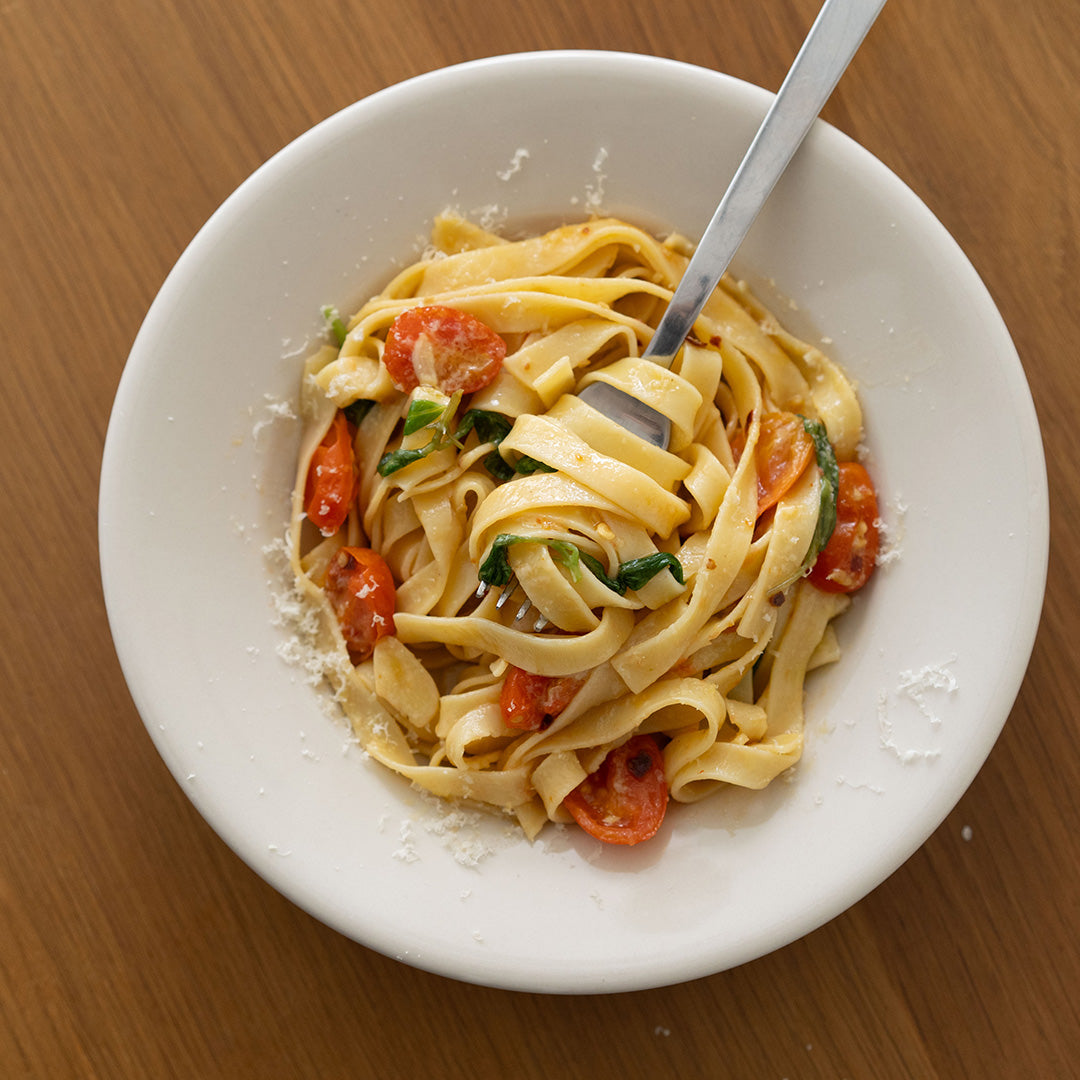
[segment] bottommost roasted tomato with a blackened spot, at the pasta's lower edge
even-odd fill
[[[654,836],[667,809],[667,780],[660,745],[635,735],[563,799],[591,836],[606,843],[640,843]]]

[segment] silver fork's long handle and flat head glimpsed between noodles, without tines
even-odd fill
[[[885,4],[886,0],[825,0],[643,357],[671,367],[758,211]],[[671,421],[663,414],[607,382],[590,383],[579,396],[646,442],[667,448]]]

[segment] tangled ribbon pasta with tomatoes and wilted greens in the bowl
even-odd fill
[[[835,363],[730,276],[671,369],[640,357],[686,262],[613,218],[511,241],[445,214],[305,365],[288,546],[322,674],[373,758],[530,838],[636,843],[789,769],[874,567]]]

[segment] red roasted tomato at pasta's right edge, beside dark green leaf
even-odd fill
[[[827,593],[853,593],[874,572],[880,535],[874,482],[858,461],[841,461],[836,495],[836,528],[810,571],[809,580]]]

